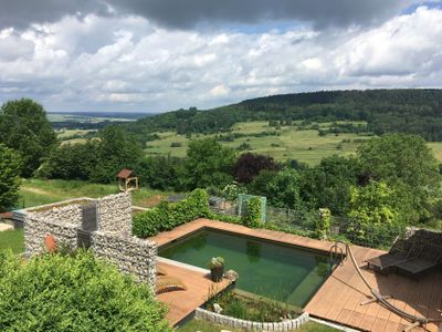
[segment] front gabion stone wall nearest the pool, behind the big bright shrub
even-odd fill
[[[122,272],[133,273],[138,281],[155,286],[157,259],[155,242],[94,231],[91,248],[97,257],[109,260]]]

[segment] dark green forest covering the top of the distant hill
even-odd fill
[[[140,138],[156,131],[179,134],[227,132],[246,121],[365,121],[367,131],[409,133],[442,141],[442,90],[351,90],[272,95],[201,111],[162,113],[126,124]]]

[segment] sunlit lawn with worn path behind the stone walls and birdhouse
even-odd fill
[[[117,184],[101,185],[81,180],[42,180],[31,178],[23,180],[21,185],[18,208],[33,207],[77,197],[98,198],[118,193]],[[171,193],[149,188],[140,188],[139,190],[133,191],[133,204],[137,206],[148,206],[148,199],[152,196],[168,196]]]

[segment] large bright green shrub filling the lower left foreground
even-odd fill
[[[80,250],[0,252],[0,331],[171,331],[146,284]]]

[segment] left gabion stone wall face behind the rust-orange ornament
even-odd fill
[[[69,209],[66,209],[69,210]],[[48,215],[54,216],[54,215]],[[62,218],[64,220],[64,218]],[[55,241],[67,245],[71,249],[76,248],[77,225],[61,224],[57,219],[52,219],[35,214],[27,216],[24,222],[24,247],[27,256],[44,252],[44,238],[53,235]]]

